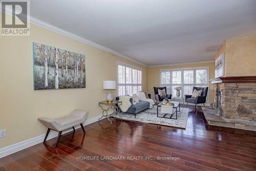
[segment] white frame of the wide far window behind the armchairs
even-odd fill
[[[184,83],[184,71],[189,71],[189,70],[193,70],[193,80],[194,83]],[[206,83],[196,83],[196,71],[197,70],[207,70],[207,80]],[[173,84],[173,71],[181,71],[181,84]],[[170,72],[170,83],[169,84],[162,84],[162,77],[161,77],[161,73],[162,72]],[[172,87],[173,86],[181,86],[182,90],[181,90],[181,97],[184,97],[184,86],[193,86],[193,87],[200,87],[200,86],[206,86],[209,87],[209,67],[195,67],[195,68],[177,68],[177,69],[163,69],[159,71],[159,75],[160,75],[160,87],[170,87],[169,91],[166,90],[167,92],[170,92],[170,94],[173,94],[172,92]],[[207,102],[208,102],[208,94],[209,91],[207,93]],[[174,95],[172,95],[172,97],[175,97]],[[178,98],[178,97],[177,97]]]

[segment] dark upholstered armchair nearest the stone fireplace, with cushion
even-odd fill
[[[185,95],[185,101],[188,103],[194,103],[196,104],[196,109],[197,109],[197,104],[200,103],[205,103],[206,102],[206,96],[207,96],[207,92],[208,92],[208,87],[193,87],[193,92],[194,90],[202,90],[201,96],[198,96],[196,98],[191,98],[192,95]]]

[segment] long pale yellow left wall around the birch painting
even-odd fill
[[[86,55],[86,89],[34,91],[33,41]],[[117,61],[142,68],[147,90],[146,67],[35,25],[30,36],[0,36],[0,48],[0,130],[7,133],[0,148],[45,134],[38,117],[56,118],[74,109],[89,111],[89,118],[100,115],[98,102],[108,94],[102,81],[116,80]]]

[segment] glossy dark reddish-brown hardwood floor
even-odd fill
[[[185,130],[113,119],[85,126],[0,159],[3,170],[256,170],[256,133],[208,127],[189,108]],[[78,160],[79,156],[152,156],[151,160]],[[158,160],[179,157],[180,160]]]

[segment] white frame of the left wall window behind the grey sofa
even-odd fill
[[[119,79],[118,79],[118,65],[125,67],[125,74],[124,74],[125,75],[125,83],[119,83]],[[133,69],[137,70],[137,84],[136,83],[126,83],[126,67],[127,68],[131,68],[132,71],[133,71]],[[117,75],[116,86],[117,86],[117,95],[118,96],[119,96],[119,86],[137,86],[137,87],[141,86],[141,90],[138,90],[138,88],[137,88],[137,91],[142,91],[142,69],[141,68],[133,66],[133,65],[129,65],[129,64],[124,63],[124,62],[117,61],[116,71],[117,71],[117,73],[116,73],[116,75]],[[141,72],[141,77],[140,77],[141,83],[138,83],[138,80],[139,80],[138,79],[139,78],[138,77],[138,71]],[[132,82],[133,82],[133,72],[132,72]],[[125,91],[126,91],[126,89],[125,89]],[[125,95],[127,95],[127,94],[125,94]]]

